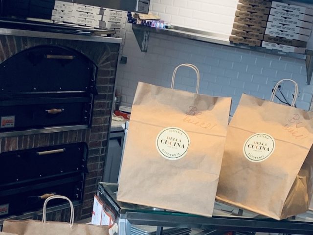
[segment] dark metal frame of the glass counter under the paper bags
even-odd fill
[[[240,212],[227,216],[213,213],[213,217],[204,217],[122,203],[116,200],[117,188],[117,184],[99,183],[98,196],[119,218],[119,235],[129,235],[132,224],[239,232],[313,234],[313,223],[299,218],[278,221],[262,216],[243,216]],[[236,210],[234,208],[234,211]]]

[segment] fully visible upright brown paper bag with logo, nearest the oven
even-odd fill
[[[197,72],[190,64],[181,66]],[[212,216],[231,98],[139,82],[117,200]]]

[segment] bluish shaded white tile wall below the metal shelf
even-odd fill
[[[174,5],[179,2],[187,4],[187,1],[174,0]],[[138,47],[131,24],[127,24],[123,56],[127,56],[128,61],[118,65],[116,87],[117,93],[122,94],[123,105],[132,105],[138,81],[170,87],[175,67],[192,63],[201,72],[200,93],[231,96],[231,114],[242,93],[269,99],[272,88],[283,78],[294,79],[299,85],[297,107],[310,108],[313,85],[306,85],[304,60],[154,33],[150,35],[148,52],[145,53]],[[181,69],[177,75],[176,89],[195,91],[194,71]],[[284,83],[281,90],[291,102],[291,84]]]

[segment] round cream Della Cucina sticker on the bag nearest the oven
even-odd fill
[[[157,151],[169,160],[183,158],[187,154],[189,144],[188,134],[178,127],[165,128],[156,137]]]

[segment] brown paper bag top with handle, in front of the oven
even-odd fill
[[[55,198],[66,199],[70,204],[70,221],[54,222],[46,221],[46,204]],[[97,226],[90,224],[74,224],[74,207],[72,202],[64,196],[51,196],[45,200],[43,221],[38,220],[5,220],[3,232],[14,233],[17,235],[109,235],[108,226]]]

